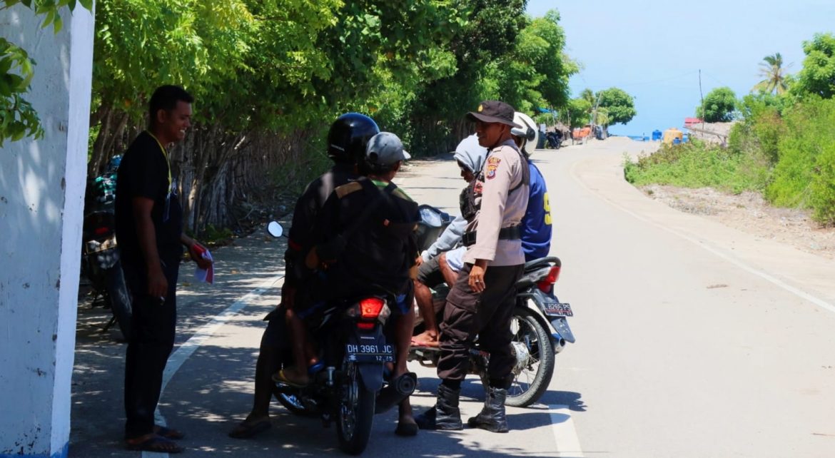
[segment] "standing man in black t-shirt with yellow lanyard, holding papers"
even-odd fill
[[[166,146],[185,137],[194,98],[183,88],[162,86],[150,99],[148,130],[139,133],[119,165],[116,236],[122,268],[133,296],[133,318],[125,357],[124,437],[132,450],[178,453],[178,430],[154,425],[162,375],[174,348],[176,287],[183,245],[201,268],[205,247],[183,233]]]

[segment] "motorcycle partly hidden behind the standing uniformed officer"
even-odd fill
[[[418,242],[421,249],[428,249],[452,220],[448,214],[429,205],[421,205],[421,222],[418,224]],[[539,400],[554,375],[555,355],[566,343],[574,343],[574,334],[568,318],[574,315],[570,304],[561,303],[554,294],[554,284],[559,278],[562,263],[559,258],[535,259],[525,264],[524,273],[516,282],[516,305],[511,320],[511,342],[516,364],[514,380],[508,390],[507,405],[526,407]],[[433,289],[433,307],[441,322],[443,305],[449,293],[447,284]],[[420,314],[417,314],[419,316]],[[416,320],[413,335],[423,332],[422,320]],[[487,366],[489,354],[478,348],[478,337],[470,350],[470,373],[478,375],[484,386],[488,385]],[[438,365],[440,349],[412,347],[409,360],[422,365]]]

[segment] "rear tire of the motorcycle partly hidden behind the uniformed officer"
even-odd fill
[[[513,385],[508,390],[506,405],[514,407],[527,407],[534,404],[548,390],[551,378],[554,376],[554,345],[551,345],[551,336],[545,330],[545,326],[539,322],[537,316],[531,310],[516,307],[514,320],[519,320],[519,332],[514,335],[514,340],[524,341],[522,333],[528,331],[529,337],[536,342],[535,351],[529,348],[531,355],[539,359],[539,367],[534,375],[534,380],[523,385],[519,382],[519,375],[514,378]]]

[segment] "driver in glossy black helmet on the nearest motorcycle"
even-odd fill
[[[281,288],[281,306],[267,315],[269,321],[261,338],[261,349],[256,363],[256,389],[252,410],[246,419],[230,431],[230,437],[245,439],[270,428],[269,407],[272,397],[271,376],[281,364],[281,350],[287,345],[285,320],[296,325],[293,309],[297,287],[304,274],[303,247],[309,246],[311,232],[323,204],[333,189],[357,178],[357,160],[365,155],[368,139],[380,132],[372,118],[360,113],[345,113],[331,124],[327,134],[327,154],[333,166],[325,174],[311,181],[296,201],[292,226],[285,252],[285,279]],[[286,318],[286,315],[289,315]],[[296,359],[308,360],[304,342],[291,342]],[[301,367],[305,367],[305,364]]]

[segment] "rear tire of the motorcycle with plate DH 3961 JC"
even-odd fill
[[[339,448],[349,455],[359,455],[368,445],[374,420],[376,393],[366,390],[356,363],[345,361],[337,405]]]

